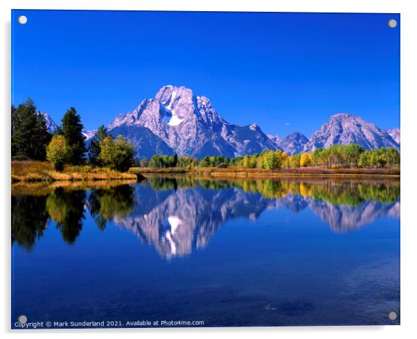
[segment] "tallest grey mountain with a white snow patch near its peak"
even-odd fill
[[[201,158],[237,157],[279,149],[258,125],[229,123],[206,96],[172,85],[163,86],[154,98],[144,99],[132,112],[118,115],[110,123],[109,132],[129,139],[141,157],[161,150],[165,154]]]

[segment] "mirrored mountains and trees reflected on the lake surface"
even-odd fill
[[[99,229],[128,229],[170,259],[208,245],[234,218],[256,220],[267,209],[310,209],[335,232],[349,232],[377,218],[400,218],[396,179],[202,180],[151,177],[119,186],[13,189],[12,243],[30,250],[48,220],[74,243],[89,214]]]

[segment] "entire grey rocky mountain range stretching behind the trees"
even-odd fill
[[[48,114],[48,130],[57,125]],[[359,144],[366,149],[394,147],[400,149],[400,128],[382,130],[360,116],[339,113],[330,116],[321,129],[308,139],[300,132],[286,137],[265,134],[253,123],[240,126],[224,120],[206,96],[186,87],[163,86],[154,98],[145,98],[132,112],[122,113],[108,125],[112,135],[130,140],[139,157],[166,154],[190,157],[223,155],[238,157],[283,150],[288,154],[310,152],[335,144]],[[95,131],[85,132],[88,142]]]

